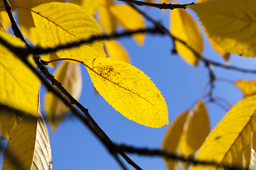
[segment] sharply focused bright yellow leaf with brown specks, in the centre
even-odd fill
[[[164,97],[144,72],[111,58],[100,57],[86,64],[97,91],[119,113],[151,128],[169,124]]]

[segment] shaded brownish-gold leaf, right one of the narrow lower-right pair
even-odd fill
[[[181,154],[191,156],[203,145],[210,132],[208,113],[203,101],[198,101],[192,117],[189,120],[188,128],[183,132],[179,147]]]

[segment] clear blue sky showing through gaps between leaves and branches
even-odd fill
[[[157,21],[161,21],[166,28],[169,28],[170,11],[161,12],[156,8],[139,8],[149,13]],[[193,13],[191,10],[188,11]],[[196,18],[194,13],[193,16]],[[198,21],[197,18],[196,20]],[[146,26],[151,26],[151,23],[146,21]],[[143,47],[139,47],[132,38],[120,38],[119,42],[127,48],[132,65],[151,77],[151,80],[154,81],[161,94],[166,98],[170,125],[178,113],[186,111],[201,97],[203,88],[209,81],[208,69],[202,62],[199,63],[198,67],[192,67],[178,55],[172,55],[172,42],[169,37],[146,35]],[[225,63],[223,58],[210,47],[205,34],[204,44],[204,57]],[[231,55],[230,57],[230,65],[232,66],[255,69],[255,64],[256,62],[252,58],[237,55]],[[148,128],[124,118],[104,98],[95,96],[90,77],[85,67],[81,67],[83,88],[79,101],[85,108],[88,108],[92,118],[96,120],[112,141],[134,147],[159,149],[169,126],[165,125],[158,129]],[[254,74],[243,74],[218,67],[214,67],[214,72],[218,78],[230,79],[231,81],[253,79],[255,77]],[[242,99],[242,93],[238,88],[223,81],[215,82],[213,93],[214,96],[225,98],[232,104]],[[41,97],[43,99],[43,94]],[[210,127],[214,128],[225,115],[225,111],[213,103],[206,103],[206,108],[210,117]],[[70,113],[55,133],[52,132],[49,125],[48,127],[53,154],[53,169],[121,169],[115,159],[107,152],[107,149],[92,135],[92,132]],[[166,169],[164,161],[159,157],[128,155],[142,169]],[[124,162],[124,159],[122,159],[122,162]],[[124,162],[124,164],[128,169],[133,169],[127,163]]]

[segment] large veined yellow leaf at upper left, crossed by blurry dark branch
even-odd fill
[[[85,10],[75,4],[48,3],[33,8],[32,16],[38,33],[46,45],[55,47],[68,42],[78,42],[101,35],[100,26]],[[105,57],[102,41],[81,45],[56,52],[59,57],[87,62],[92,58]]]

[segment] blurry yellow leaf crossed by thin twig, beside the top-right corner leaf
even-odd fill
[[[175,9],[171,12],[171,33],[180,40],[186,42],[199,54],[203,52],[203,36],[196,21],[184,9]],[[176,50],[188,64],[198,64],[198,57],[181,42],[175,41]]]

